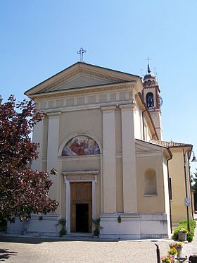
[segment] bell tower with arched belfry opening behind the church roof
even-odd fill
[[[161,111],[160,107],[163,103],[160,97],[160,88],[155,75],[151,74],[150,65],[148,63],[148,73],[143,79],[144,89],[142,90],[142,97],[151,114],[155,129],[158,133],[159,140],[163,140],[163,130],[161,125]]]

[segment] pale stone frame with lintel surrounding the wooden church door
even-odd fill
[[[70,234],[70,183],[91,182],[91,213],[92,219],[96,219],[96,182],[99,171],[69,171],[63,172],[65,183],[65,220],[66,232]],[[93,226],[91,228],[93,233]],[[77,233],[75,233],[77,235]]]

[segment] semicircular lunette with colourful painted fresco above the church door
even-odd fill
[[[72,137],[63,147],[62,156],[100,154],[98,144],[89,136]]]

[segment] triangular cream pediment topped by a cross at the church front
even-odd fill
[[[72,90],[80,87],[93,87],[98,85],[111,85],[121,82],[139,80],[136,75],[113,71],[87,63],[77,62],[69,68],[53,75],[51,78],[27,90],[25,94],[42,94],[44,92],[58,92]]]

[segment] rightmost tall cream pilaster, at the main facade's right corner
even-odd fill
[[[120,105],[122,119],[122,177],[124,213],[137,212],[134,104]]]

